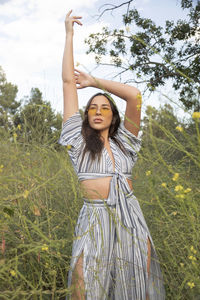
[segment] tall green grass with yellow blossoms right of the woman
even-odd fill
[[[200,118],[176,129],[173,112],[166,114],[166,107],[148,111],[133,169],[135,194],[159,253],[166,299],[198,299]]]

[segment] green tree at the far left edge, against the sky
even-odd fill
[[[5,72],[0,67],[0,127],[6,130],[12,126],[10,118],[21,105],[15,100],[17,92],[17,86],[7,82]]]

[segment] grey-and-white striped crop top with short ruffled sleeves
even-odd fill
[[[103,148],[100,161],[98,161],[98,158],[92,161],[89,151],[85,153],[82,161],[85,142],[81,134],[81,129],[82,117],[79,112],[76,112],[63,124],[58,141],[59,144],[68,146],[68,154],[79,181],[106,177],[108,174],[116,173],[123,174],[125,177],[131,179],[132,168],[137,160],[137,152],[140,150],[141,140],[128,131],[122,122],[120,123],[115,137],[123,144],[127,154],[122,152],[112,138],[109,138],[115,162],[115,169],[113,170],[111,157],[105,147]]]

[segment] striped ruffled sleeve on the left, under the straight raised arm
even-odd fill
[[[78,150],[81,148],[83,136],[81,134],[82,117],[80,112],[74,113],[63,124],[62,131],[58,143],[62,146],[67,146],[70,156],[77,156]]]

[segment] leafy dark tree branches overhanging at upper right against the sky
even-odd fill
[[[105,64],[103,59],[109,55],[109,65],[118,67],[118,74],[131,72],[128,82],[145,83],[151,92],[170,80],[184,107],[199,111],[200,1],[181,0],[188,19],[167,20],[164,28],[142,18],[137,9],[130,9],[132,2],[110,5],[101,13],[102,16],[106,11],[127,5],[122,15],[126,29],[104,27],[101,33],[90,34],[85,41],[89,46],[87,53],[95,53],[98,64]]]

